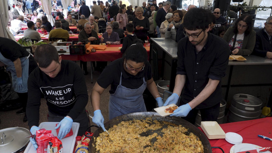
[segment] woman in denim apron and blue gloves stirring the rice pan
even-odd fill
[[[109,119],[133,112],[146,112],[143,93],[147,88],[158,106],[163,106],[162,98],[152,78],[151,65],[147,61],[147,51],[141,43],[132,44],[124,57],[110,63],[99,75],[91,93],[94,110],[92,122],[104,128],[104,118],[100,111],[100,95],[109,90]]]

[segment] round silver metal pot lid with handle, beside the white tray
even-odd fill
[[[28,144],[30,135],[28,129],[13,127],[0,130],[0,150],[1,152],[15,152]]]

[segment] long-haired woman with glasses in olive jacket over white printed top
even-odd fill
[[[228,42],[233,55],[250,55],[254,49],[256,32],[252,30],[252,17],[241,15],[233,27],[228,28],[223,39]]]

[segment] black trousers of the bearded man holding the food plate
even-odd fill
[[[181,105],[184,105],[185,103],[182,103]],[[196,122],[196,116],[198,111],[200,110],[201,114],[201,121],[217,121],[217,118],[219,116],[219,109],[220,109],[220,102],[212,107],[203,108],[203,109],[192,109],[186,117],[182,117],[182,119],[185,119],[186,121],[195,124]]]

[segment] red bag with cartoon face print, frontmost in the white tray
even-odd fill
[[[48,141],[47,153],[63,153],[62,142],[57,137],[53,137]]]

